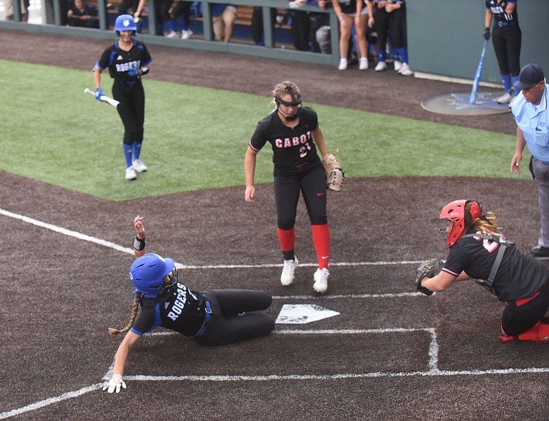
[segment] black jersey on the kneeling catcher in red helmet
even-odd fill
[[[456,276],[465,271],[471,279],[486,281],[500,247],[487,238],[460,238],[450,249],[443,271]],[[516,301],[537,293],[548,279],[549,269],[543,263],[509,244],[489,291],[500,301]]]

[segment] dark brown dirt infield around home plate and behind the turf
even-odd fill
[[[3,59],[77,69],[91,68],[105,46],[10,31],[0,32],[0,43]],[[456,85],[151,50],[151,77],[161,80],[266,95],[288,78],[307,86],[311,102],[514,131],[510,115],[447,117],[419,106],[424,96]],[[363,92],[355,89],[362,84]],[[113,203],[5,172],[0,177],[0,419],[547,419],[549,345],[498,341],[503,306],[476,285],[424,297],[411,282],[417,262],[445,257],[436,212],[454,198],[478,198],[519,247],[531,247],[539,214],[529,180],[349,179],[345,192],[329,199],[329,295],[317,297],[303,203],[296,282],[279,283],[270,183],[257,186],[257,206],[244,203],[240,187]],[[272,317],[283,304],[315,304],[340,315],[278,324],[269,337],[222,348],[200,348],[166,331],[150,334],[132,350],[128,389],[105,394],[100,385],[120,341],[106,328],[125,326],[131,310],[126,271],[136,214],[146,218],[149,251],[190,266],[184,273],[191,288],[263,289],[274,296]]]

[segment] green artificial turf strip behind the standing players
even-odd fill
[[[110,78],[102,76],[110,95]],[[0,170],[113,201],[242,185],[250,135],[270,98],[144,80],[148,166],[124,179],[123,126],[112,107],[84,95],[90,71],[0,60]],[[347,177],[511,175],[515,137],[334,106],[313,106],[329,152]],[[270,146],[256,183],[272,181]],[[525,157],[527,159],[527,157]]]

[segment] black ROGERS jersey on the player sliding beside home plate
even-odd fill
[[[162,326],[194,337],[206,319],[205,298],[180,282],[158,295],[145,294],[140,304],[141,312],[130,329],[139,335]]]

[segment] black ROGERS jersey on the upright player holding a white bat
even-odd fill
[[[133,40],[133,47],[126,52],[118,47],[117,40],[103,52],[96,64],[102,71],[108,67],[111,78],[130,82],[139,79],[139,77],[130,76],[128,71],[130,69],[141,69],[142,66],[148,65],[150,62],[152,62],[152,58],[147,47],[141,41]]]

